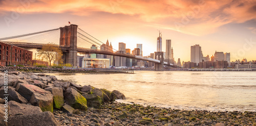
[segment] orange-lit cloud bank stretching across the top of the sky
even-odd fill
[[[102,16],[105,13],[112,14],[112,18],[126,17],[119,19],[123,22],[131,17],[136,20],[134,23],[141,22],[154,28],[198,36],[216,32],[227,23],[243,23],[256,19],[254,0],[0,0],[0,3],[0,16],[18,8],[24,8],[24,14],[69,13],[90,17]],[[177,29],[177,22],[182,25],[180,29]]]

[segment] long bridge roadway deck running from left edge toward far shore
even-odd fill
[[[26,49],[41,49],[42,46],[46,44],[40,44],[40,43],[27,43],[27,42],[7,42],[7,41],[0,41],[4,42],[10,45],[26,48]],[[68,52],[69,47],[67,46],[60,46],[58,44],[52,44],[53,46],[60,47],[62,52]],[[119,56],[119,57],[126,57],[130,59],[137,59],[137,60],[143,60],[153,63],[160,63],[160,60],[152,59],[152,58],[146,58],[141,56],[134,56],[132,54],[120,54],[120,53],[112,53],[108,51],[100,51],[99,49],[90,49],[90,48],[83,48],[83,47],[77,47],[77,52],[80,54],[103,54],[103,55],[112,55],[112,56]],[[164,62],[164,65],[177,67],[173,64],[168,64],[167,62]]]

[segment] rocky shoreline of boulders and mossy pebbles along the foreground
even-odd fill
[[[0,81],[4,71],[0,69]],[[253,125],[256,112],[187,111],[115,102],[119,91],[81,86],[44,73],[8,69],[0,84],[0,125]],[[8,122],[5,104],[8,103]]]

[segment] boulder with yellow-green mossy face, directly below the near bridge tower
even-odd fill
[[[68,88],[64,93],[66,103],[74,109],[87,110],[87,100],[73,88]]]

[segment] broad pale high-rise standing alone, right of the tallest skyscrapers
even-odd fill
[[[202,62],[202,57],[203,57],[203,54],[202,54],[201,46],[199,46],[199,44],[191,46],[190,62],[199,64],[200,62]]]

